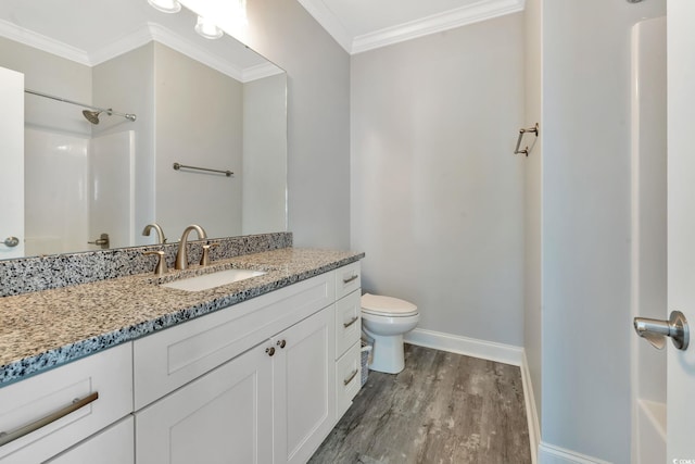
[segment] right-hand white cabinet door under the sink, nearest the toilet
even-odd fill
[[[273,339],[276,464],[305,463],[333,427],[333,319],[331,305]]]

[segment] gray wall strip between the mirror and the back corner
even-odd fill
[[[248,3],[242,41],[288,73],[289,230],[350,247],[350,57],[295,0]]]

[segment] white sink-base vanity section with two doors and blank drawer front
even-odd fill
[[[334,294],[326,273],[136,340],[136,462],[306,462],[336,423]]]

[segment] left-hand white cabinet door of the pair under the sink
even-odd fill
[[[136,463],[271,462],[273,363],[266,344],[136,412]]]

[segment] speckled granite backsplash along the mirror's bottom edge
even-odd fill
[[[190,241],[190,263],[200,261],[201,242],[219,243],[210,250],[211,260],[216,261],[292,247],[292,233]],[[153,272],[157,256],[142,254],[151,250],[164,250],[166,263],[173,268],[178,243],[167,243],[0,261],[0,297]]]

